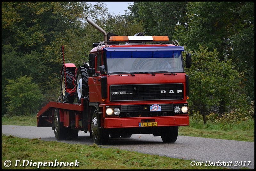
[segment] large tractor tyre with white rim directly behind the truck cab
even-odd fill
[[[87,97],[88,93],[88,78],[89,74],[85,66],[80,66],[77,69],[76,74],[76,99],[78,103],[81,103],[81,99]]]

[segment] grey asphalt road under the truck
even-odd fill
[[[33,126],[2,125],[2,134],[20,138],[41,138],[45,141],[57,141],[52,128],[37,128]],[[69,144],[92,145],[89,133],[79,131],[77,140],[60,141]],[[103,148],[118,148],[171,158],[202,162],[208,166],[211,162],[226,163],[232,169],[249,167],[254,169],[254,142],[197,138],[178,136],[175,143],[163,143],[161,137],[148,134],[132,135],[131,138],[109,138]],[[247,164],[250,162],[249,166]],[[245,166],[244,166],[245,164]],[[228,166],[226,166],[228,167]]]

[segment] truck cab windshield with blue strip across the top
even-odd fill
[[[106,51],[108,73],[184,72],[181,51]]]

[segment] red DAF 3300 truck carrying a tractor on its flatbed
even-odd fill
[[[57,140],[90,132],[96,144],[132,134],[161,136],[175,142],[179,126],[189,125],[188,75],[191,54],[167,36],[117,36],[106,33],[94,43],[89,63],[65,63],[61,48],[61,95],[37,114],[37,127],[52,127]],[[75,103],[75,99],[77,103]]]

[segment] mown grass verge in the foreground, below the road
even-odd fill
[[[12,165],[4,167],[10,160]],[[16,160],[20,163],[15,167]],[[28,161],[26,161],[28,160]],[[40,139],[16,138],[2,135],[2,169],[38,169],[22,167],[27,162],[79,162],[79,167],[39,167],[41,169],[226,169],[217,166],[191,166],[191,160],[172,159],[158,155],[129,152],[97,145],[67,144]],[[21,166],[20,166],[21,165]],[[247,169],[247,168],[244,168]]]

